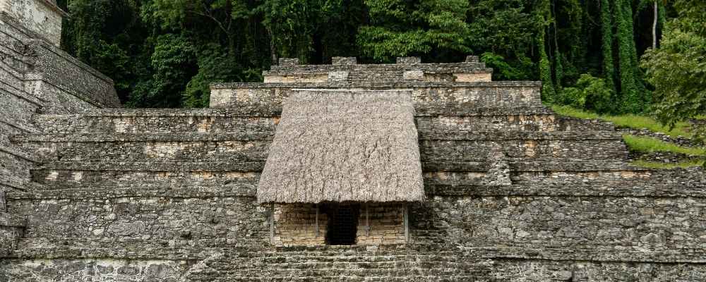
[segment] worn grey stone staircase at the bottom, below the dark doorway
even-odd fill
[[[425,245],[278,247],[222,254],[189,281],[490,281],[492,262]]]

